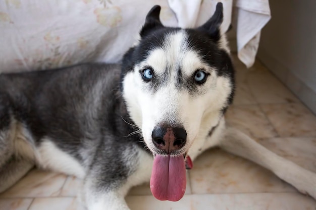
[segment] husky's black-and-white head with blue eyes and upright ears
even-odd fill
[[[177,157],[183,159],[188,152],[200,124],[210,123],[209,117],[218,122],[232,102],[233,66],[220,31],[221,3],[212,18],[195,29],[163,26],[160,10],[150,10],[139,42],[123,58],[122,91],[131,119],[155,159],[167,157],[172,165],[174,158],[182,167]]]

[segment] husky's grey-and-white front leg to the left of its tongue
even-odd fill
[[[129,210],[125,201],[129,189],[149,181],[152,155],[138,146],[125,148],[96,154],[79,197],[88,210]]]

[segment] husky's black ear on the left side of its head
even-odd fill
[[[153,6],[149,13],[146,16],[145,24],[143,25],[141,31],[140,31],[140,36],[144,37],[151,31],[164,27],[162,22],[160,22],[159,15],[160,15],[160,10],[161,7],[159,5]]]

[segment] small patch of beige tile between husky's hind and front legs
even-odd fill
[[[83,180],[74,176],[69,176],[61,190],[60,196],[77,196],[80,192]]]

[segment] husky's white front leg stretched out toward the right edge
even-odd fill
[[[276,155],[237,129],[227,128],[225,132],[219,143],[221,148],[271,170],[300,192],[316,199],[315,173]]]

